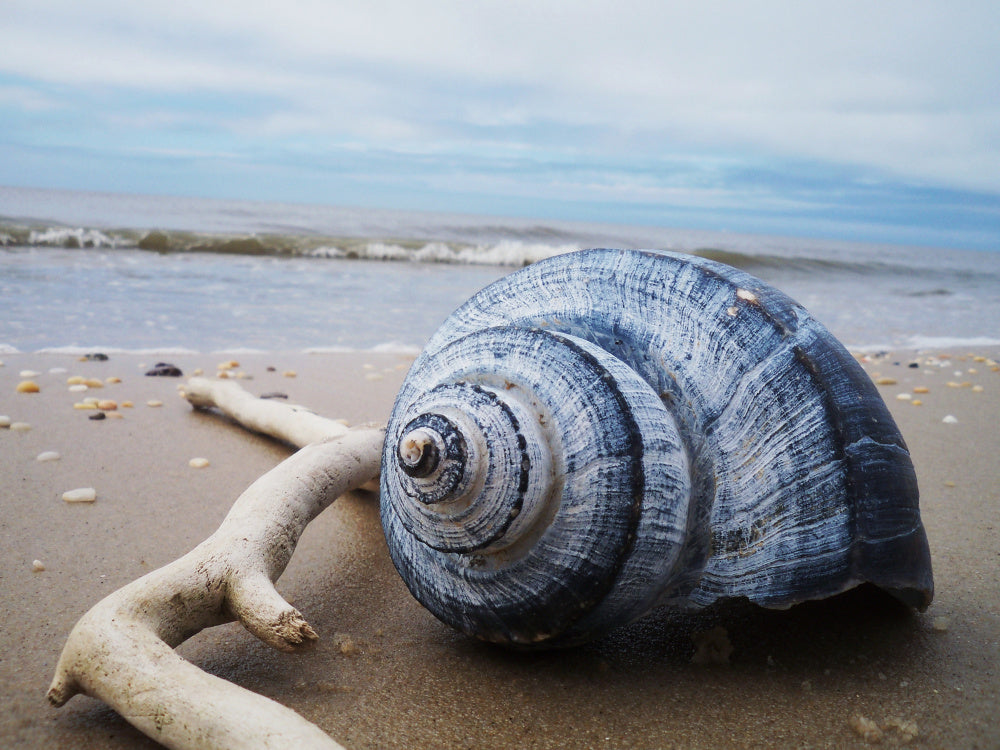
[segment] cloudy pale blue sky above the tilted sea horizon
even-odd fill
[[[1000,250],[996,0],[0,0],[0,39],[3,185]]]

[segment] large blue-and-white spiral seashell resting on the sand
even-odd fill
[[[424,606],[517,647],[662,605],[933,595],[869,376],[781,292],[673,253],[550,258],[456,310],[394,404],[381,514]]]

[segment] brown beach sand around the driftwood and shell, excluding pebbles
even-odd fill
[[[976,354],[1000,359],[997,350]],[[952,355],[944,367],[910,368],[926,356],[908,353],[865,365],[898,381],[881,390],[921,486],[937,586],[923,614],[862,590],[786,612],[740,603],[661,611],[585,647],[508,653],[452,632],[411,599],[389,561],[376,498],[357,494],[309,527],[279,582],[320,633],[315,649],[289,656],[227,625],[179,650],[350,748],[864,747],[856,717],[880,725],[885,745],[1000,747],[1000,373]],[[225,358],[171,361],[187,375],[214,372]],[[0,414],[32,428],[0,429],[0,746],[154,747],[96,700],[47,705],[66,636],[105,594],[208,536],[290,451],[192,411],[176,379],[143,377],[152,356],[0,359]],[[283,391],[352,421],[384,419],[409,364],[392,355],[239,359],[250,390]],[[41,373],[40,393],[15,392],[25,369]],[[298,376],[285,377],[288,369]],[[122,382],[70,393],[74,374]],[[923,404],[897,400],[903,392]],[[135,406],[92,421],[93,412],[72,408],[88,395]],[[36,461],[48,450],[61,459]],[[193,457],[210,465],[191,468]],[[96,502],[63,502],[82,486],[97,490]],[[33,570],[34,560],[45,569]],[[729,663],[692,663],[692,637],[716,626],[734,648]]]

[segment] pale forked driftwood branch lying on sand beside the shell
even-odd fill
[[[184,396],[301,450],[250,485],[208,539],[87,612],[63,648],[49,702],[99,698],[167,747],[338,748],[291,709],[203,672],[173,649],[232,620],[282,651],[316,640],[273,584],[306,525],[377,476],[384,428],[347,428],[255,398],[232,381],[192,378]]]

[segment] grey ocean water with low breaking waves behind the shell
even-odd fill
[[[478,289],[588,247],[738,266],[852,351],[1000,344],[1000,248],[0,187],[0,352],[416,352]]]

